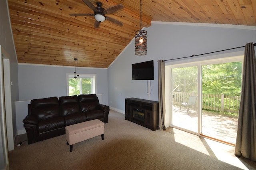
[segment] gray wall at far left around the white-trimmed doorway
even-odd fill
[[[13,85],[11,87],[12,93],[12,118],[13,118],[13,130],[16,132],[16,116],[15,116],[15,101],[18,100],[18,66],[15,53],[15,47],[12,39],[12,32],[10,28],[10,20],[7,8],[7,0],[0,0],[0,45],[8,53],[10,57],[10,74]],[[3,114],[3,113],[1,113]],[[8,123],[8,122],[7,122]],[[0,126],[1,128],[1,126]],[[1,129],[0,129],[0,132]],[[2,133],[0,135],[0,169],[4,169],[3,146],[2,146]]]

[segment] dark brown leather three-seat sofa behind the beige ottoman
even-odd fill
[[[28,144],[65,134],[65,127],[99,119],[108,123],[109,106],[99,103],[96,94],[33,99],[23,120]]]

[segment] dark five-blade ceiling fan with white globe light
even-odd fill
[[[100,26],[101,22],[104,22],[105,20],[109,20],[110,22],[118,25],[123,26],[123,23],[111,18],[109,16],[105,16],[105,14],[111,14],[114,12],[117,12],[118,10],[122,10],[124,6],[122,4],[112,6],[108,9],[102,8],[101,2],[96,2],[96,7],[89,1],[89,0],[83,0],[84,4],[86,4],[89,8],[91,8],[94,11],[94,14],[69,14],[70,16],[94,16],[95,22],[94,22],[94,28],[98,28]]]

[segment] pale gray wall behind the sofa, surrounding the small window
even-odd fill
[[[67,73],[74,73],[74,67],[19,64],[19,101],[66,96]],[[108,105],[107,69],[79,67],[79,73],[96,74],[96,93],[103,94],[102,104]]]

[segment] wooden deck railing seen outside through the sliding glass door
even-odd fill
[[[195,93],[173,92],[173,104],[180,105],[182,102],[187,102],[189,96],[195,96]],[[231,95],[215,95],[215,94],[202,94],[202,109],[211,111],[239,113],[240,96]]]

